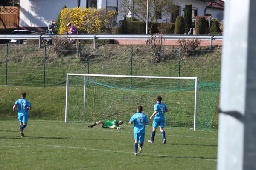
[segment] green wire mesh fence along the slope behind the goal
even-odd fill
[[[198,77],[201,82],[220,82],[221,50],[190,52],[184,58],[178,46],[166,47],[155,60],[147,46],[73,46],[57,53],[52,45],[4,44],[0,45],[0,85],[65,86],[67,73]]]

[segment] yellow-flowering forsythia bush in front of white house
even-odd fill
[[[116,11],[106,11],[105,8],[64,8],[61,10],[60,34],[70,30],[67,23],[72,23],[76,30],[85,34],[98,33],[109,27],[113,18],[116,18]]]

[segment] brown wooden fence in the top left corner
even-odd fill
[[[18,6],[0,6],[0,28],[18,28],[19,14]]]

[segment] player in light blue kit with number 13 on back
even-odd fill
[[[139,147],[139,151],[140,153],[142,153],[142,147],[143,147],[143,142],[144,142],[144,137],[145,137],[145,125],[148,125],[149,121],[148,121],[148,117],[147,115],[142,113],[142,106],[137,106],[137,113],[135,113],[131,119],[129,124],[134,123],[134,150],[135,153],[134,155],[138,155],[137,151],[138,151],[138,147]],[[138,142],[140,142],[140,144],[138,144]]]

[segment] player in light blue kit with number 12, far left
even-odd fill
[[[28,123],[28,117],[29,117],[29,112],[28,110],[31,110],[31,105],[28,100],[26,100],[26,92],[21,93],[21,99],[18,99],[15,104],[13,105],[13,111],[15,111],[16,107],[18,107],[18,118],[20,121],[20,133],[21,137],[24,137],[23,130],[26,127]]]

